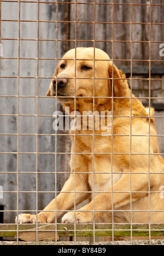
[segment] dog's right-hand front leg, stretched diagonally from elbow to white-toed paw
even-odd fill
[[[135,170],[135,172],[137,171],[142,170]],[[134,202],[147,195],[148,184],[148,174],[122,174],[122,178],[113,185],[113,189],[109,188],[104,193],[97,195],[89,204],[75,212],[75,218],[71,218],[73,214],[68,212],[62,220],[65,223],[74,222],[74,219],[77,223],[93,223],[93,219],[105,217],[112,210],[112,204],[113,208],[117,209],[127,205],[131,200]],[[137,191],[143,191],[143,193],[137,193]]]

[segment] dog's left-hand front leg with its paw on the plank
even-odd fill
[[[86,193],[80,193],[80,191],[85,191]],[[16,223],[55,223],[55,219],[59,218],[63,211],[71,210],[75,205],[83,202],[89,196],[87,193],[87,177],[85,174],[71,173],[70,178],[66,181],[63,186],[61,193],[52,200],[48,206],[38,215],[31,214],[19,214],[18,219],[16,217]],[[57,210],[57,212],[56,212]]]

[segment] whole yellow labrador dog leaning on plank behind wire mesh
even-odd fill
[[[82,122],[81,129],[70,131],[71,153],[75,153],[71,154],[70,178],[38,214],[38,223],[55,223],[66,210],[63,223],[92,223],[93,219],[111,223],[112,216],[114,223],[131,223],[131,218],[133,223],[149,223],[149,218],[151,223],[163,223],[164,160],[154,119],[149,118],[149,109],[131,97],[125,75],[109,56],[100,49],[69,50],[58,64],[47,95],[57,96],[69,114],[77,110],[81,119],[89,111],[103,112],[105,125],[108,112],[113,118],[107,130],[97,125],[95,115],[92,129],[87,121],[85,129]],[[150,112],[153,115],[154,110]],[[87,205],[69,212],[86,199]],[[16,222],[36,223],[36,215],[20,214]]]

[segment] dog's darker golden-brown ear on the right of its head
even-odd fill
[[[126,89],[125,75],[115,65],[112,65],[112,62],[110,62],[108,73],[109,77],[113,78],[114,97],[123,97]],[[112,79],[110,86],[112,88]]]

